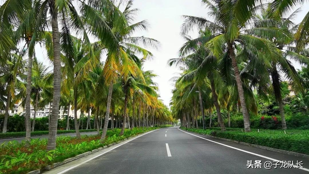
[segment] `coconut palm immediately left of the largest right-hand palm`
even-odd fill
[[[190,37],[185,38],[187,39],[187,42],[179,51],[180,57],[186,57],[184,58],[185,60],[182,60],[181,58],[178,60],[173,59],[170,61],[170,65],[172,65],[174,61],[178,61],[178,63],[179,61],[187,63],[189,70],[183,75],[182,78],[180,78],[180,81],[191,79],[191,81],[194,81],[193,83],[195,83],[196,86],[200,86],[202,83],[209,84],[212,91],[214,105],[217,110],[220,127],[222,130],[226,130],[223,124],[221,109],[218,102],[218,95],[216,92],[220,86],[224,86],[222,80],[220,80],[220,72],[217,70],[218,63],[216,59],[208,55],[207,50],[205,50],[204,47],[200,47],[200,45],[205,45],[212,38],[212,34],[210,30],[205,30],[200,31],[200,36],[196,39],[191,39]],[[192,51],[193,53],[188,55],[190,50],[191,53]],[[196,79],[193,80],[193,77],[196,77]],[[193,92],[195,93],[195,91]]]

